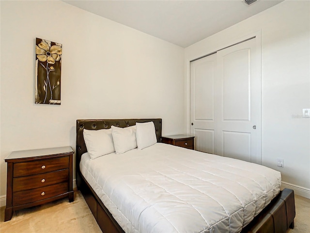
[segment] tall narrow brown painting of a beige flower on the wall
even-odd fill
[[[35,103],[61,104],[62,44],[35,39]]]

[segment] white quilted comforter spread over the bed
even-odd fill
[[[240,232],[280,190],[265,166],[156,143],[80,170],[126,233]]]

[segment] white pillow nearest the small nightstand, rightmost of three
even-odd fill
[[[136,123],[137,126],[137,146],[138,150],[150,147],[157,142],[155,125],[153,121]]]

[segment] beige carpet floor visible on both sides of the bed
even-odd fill
[[[288,233],[310,233],[310,200],[295,196],[295,205],[295,228]],[[71,203],[62,199],[19,210],[7,222],[4,207],[0,213],[0,233],[101,233],[79,191]]]

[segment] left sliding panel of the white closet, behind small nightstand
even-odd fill
[[[190,67],[191,134],[195,149],[215,153],[215,89],[217,54],[201,58]]]

